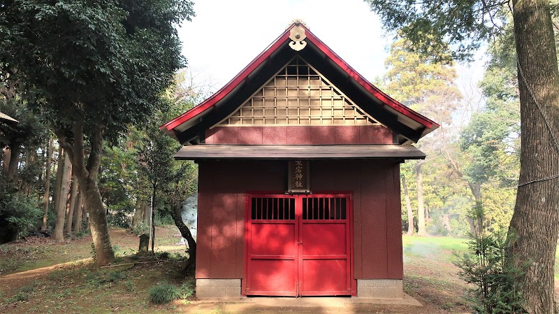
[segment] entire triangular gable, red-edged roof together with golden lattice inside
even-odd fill
[[[295,28],[304,43],[293,45]],[[221,90],[161,129],[181,143],[199,143],[217,126],[352,123],[382,124],[401,144],[439,127],[384,94],[294,23]]]

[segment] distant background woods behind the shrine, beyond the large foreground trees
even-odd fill
[[[456,64],[414,52],[396,34],[385,73],[373,83],[406,106],[440,122],[423,138],[426,160],[402,164],[402,231],[424,236],[475,234],[472,209],[482,204],[491,232],[506,231],[518,184],[520,113],[514,40],[510,30],[488,43],[484,78],[474,88],[458,88]],[[52,121],[22,97],[17,72],[3,69],[0,111],[19,121],[1,124],[3,206],[1,242],[29,228],[51,229],[55,238],[87,227],[78,180],[53,133]],[[141,123],[103,143],[99,190],[110,224],[142,233],[150,206],[157,223],[172,223],[170,183],[177,171],[196,193],[196,165],[175,162],[178,143],[159,131],[170,118],[195,106],[215,90],[201,73],[182,69],[159,95],[160,108]],[[474,84],[474,83],[472,83]],[[460,92],[462,90],[462,92]],[[87,155],[87,148],[85,154]],[[10,182],[8,187],[6,183]],[[412,223],[410,223],[412,222]]]

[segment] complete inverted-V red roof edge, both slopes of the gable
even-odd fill
[[[268,57],[270,57],[270,55],[273,54],[273,52],[275,52],[275,50],[277,50],[284,43],[284,41],[289,38],[289,31],[295,25],[296,23],[291,24],[290,27],[288,27],[281,35],[279,35],[279,37],[276,38],[273,43],[268,46],[268,48],[266,48],[263,52],[260,53],[260,55],[254,58],[252,62],[245,66],[245,69],[242,69],[240,73],[238,73],[219,91],[203,101],[201,104],[198,104],[198,106],[191,108],[182,115],[179,115],[178,117],[175,117],[175,119],[170,120],[166,124],[163,124],[161,127],[159,127],[159,129],[170,134],[170,131],[172,131],[175,127],[178,127],[180,124],[190,120],[193,117],[196,117],[197,115],[203,113],[205,110],[208,110],[209,108],[214,106],[229,92],[233,91],[235,87],[242,83],[242,80],[245,80],[245,78],[247,78],[247,76],[249,76],[252,71],[258,68]],[[304,24],[298,24],[298,26],[305,29],[305,35],[307,36],[307,39],[310,40],[315,46],[317,46],[317,48],[321,50],[321,52],[324,52],[324,54],[329,57],[337,66],[340,66],[340,68],[345,71],[349,77],[353,78],[359,85],[361,85],[361,87],[365,88],[365,90],[377,97],[377,99],[382,101],[384,104],[390,106],[399,113],[402,113],[402,115],[405,115],[406,117],[409,117],[410,119],[418,122],[419,124],[423,125],[423,127],[426,127],[428,129],[436,129],[437,127],[440,127],[440,125],[436,122],[433,122],[427,117],[416,113],[414,110],[407,108],[406,106],[400,104],[398,101],[395,101],[394,99],[389,97],[389,95],[384,94],[384,92],[375,87],[375,85],[372,85],[372,83],[363,78],[361,74],[351,68],[351,66],[349,66],[347,62],[345,62],[342,58],[340,58],[340,56],[333,52],[333,50],[331,50],[331,48],[329,48],[325,43],[317,38],[317,36],[314,36],[314,34],[312,34],[312,32],[307,27],[305,27]]]

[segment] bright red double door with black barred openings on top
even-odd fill
[[[247,195],[246,295],[351,294],[349,194]]]

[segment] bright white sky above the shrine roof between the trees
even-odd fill
[[[393,35],[384,32],[379,17],[363,0],[194,1],[196,16],[179,29],[182,53],[195,80],[208,81],[211,92],[231,80],[295,19],[303,20],[367,80],[385,71]],[[459,66],[460,82],[471,85],[481,78],[482,69],[479,62]]]

